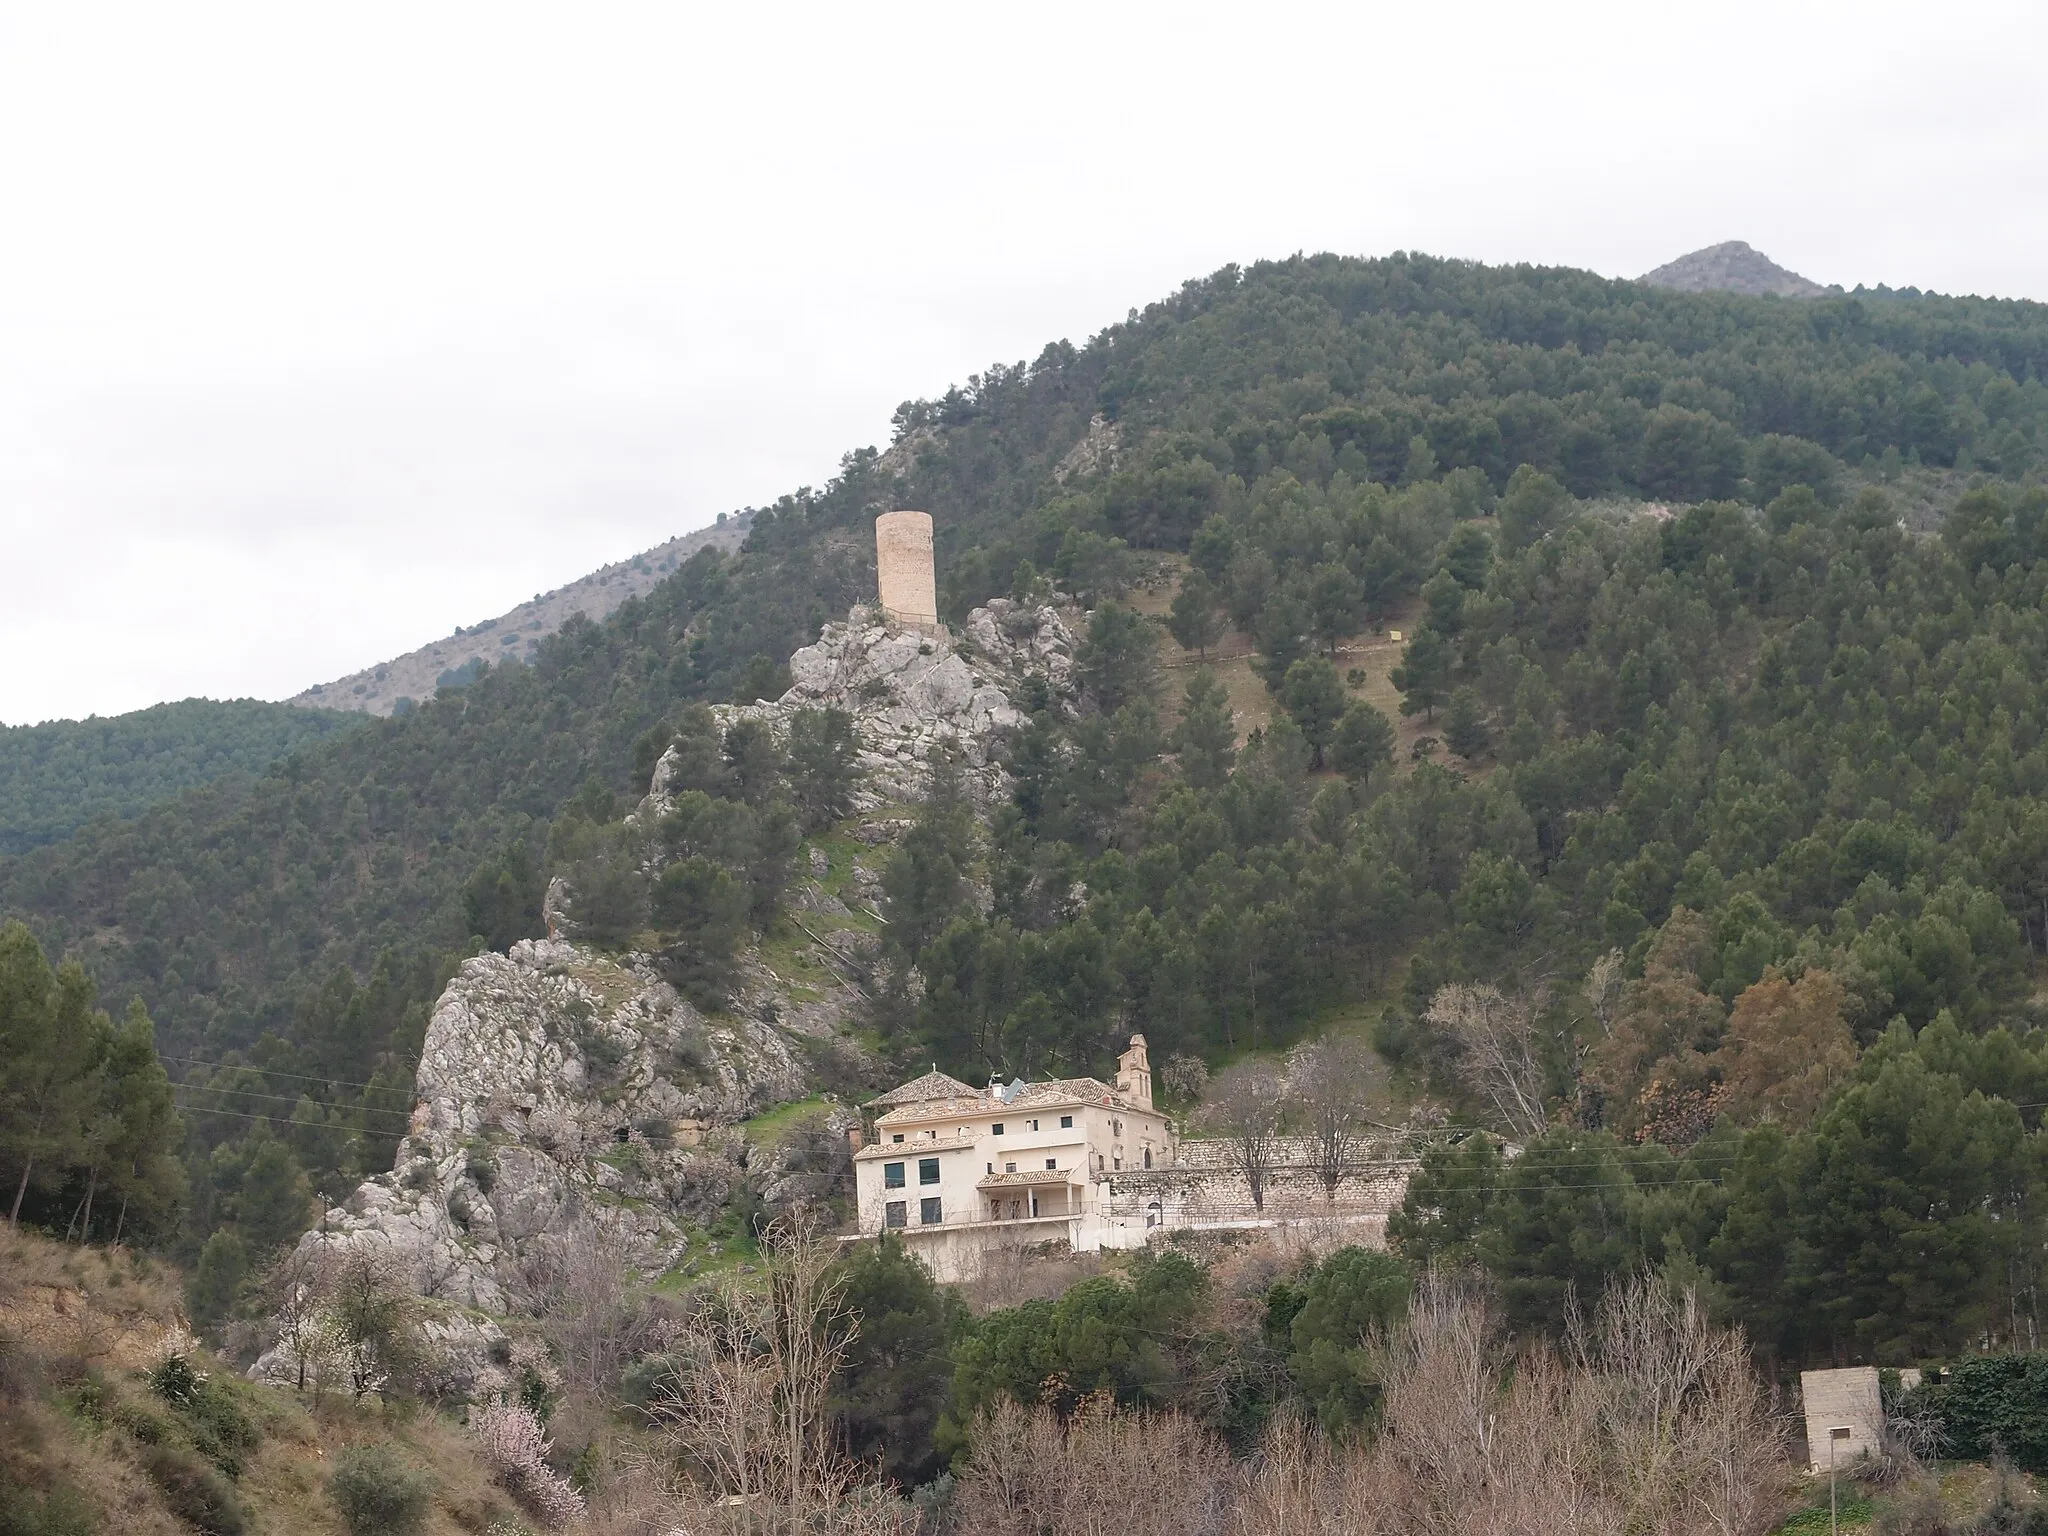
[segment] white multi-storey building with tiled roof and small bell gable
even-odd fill
[[[1143,1212],[1110,1214],[1108,1180],[1167,1167],[1174,1133],[1153,1108],[1145,1036],[1094,1077],[969,1087],[942,1071],[877,1098],[874,1145],[854,1153],[860,1235],[893,1231],[942,1278],[993,1245],[1141,1247]]]

